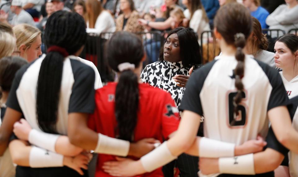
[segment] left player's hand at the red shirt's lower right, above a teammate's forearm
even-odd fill
[[[155,148],[154,143],[160,143],[160,141],[154,138],[144,138],[137,143],[130,143],[129,155],[140,158]]]

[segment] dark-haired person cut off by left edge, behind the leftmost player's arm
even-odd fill
[[[20,57],[3,57],[0,60],[0,126],[6,110],[6,102],[16,71],[28,62]],[[13,177],[16,174],[8,149],[0,157],[0,176]]]

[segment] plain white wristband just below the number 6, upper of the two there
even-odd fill
[[[234,143],[226,143],[209,138],[201,138],[199,145],[199,157],[218,158],[233,157],[235,151]]]

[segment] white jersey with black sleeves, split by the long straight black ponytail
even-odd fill
[[[31,127],[40,131],[36,116],[36,88],[44,57],[18,70],[7,100],[7,107],[23,113]],[[90,66],[76,59],[65,58],[56,123],[59,134],[67,134],[68,113],[93,113],[94,78],[94,70]]]

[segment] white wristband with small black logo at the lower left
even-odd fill
[[[29,165],[32,168],[63,166],[63,155],[36,146],[31,146]]]

